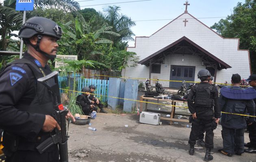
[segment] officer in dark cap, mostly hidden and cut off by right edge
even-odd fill
[[[256,74],[250,75],[246,81],[249,81],[249,85],[256,90]],[[254,98],[254,103],[256,103],[256,98]],[[256,153],[256,122],[249,122],[248,130],[250,142],[245,144],[246,147],[249,147],[245,149],[245,152]]]

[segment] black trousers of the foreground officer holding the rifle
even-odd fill
[[[59,150],[51,152],[18,150],[13,153],[13,156],[6,157],[6,162],[59,162]]]

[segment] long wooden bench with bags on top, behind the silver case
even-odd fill
[[[178,102],[187,102],[187,101],[179,101],[179,100],[166,100],[166,99],[157,99],[157,98],[151,98],[151,97],[144,97],[144,95],[140,96],[140,101],[146,101],[145,103],[145,110],[144,111],[148,111],[148,103],[150,101],[165,101],[165,102],[170,102],[171,101],[171,114],[170,112],[167,112],[167,111],[158,111],[158,110],[151,110],[149,109],[150,112],[154,112],[154,113],[163,113],[163,114],[169,114],[171,115],[170,117],[160,117],[160,119],[162,120],[169,120],[170,121],[170,124],[173,124],[173,122],[187,122],[189,123],[189,120],[188,119],[175,119],[174,118],[174,115],[184,115],[184,114],[176,114],[175,113],[175,108],[176,108],[176,103]],[[140,111],[143,111],[143,103],[144,102],[141,102],[140,103]],[[189,115],[186,115],[186,116],[189,116]]]

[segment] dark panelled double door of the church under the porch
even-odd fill
[[[169,87],[179,88],[182,82],[173,81],[195,81],[195,66],[177,66],[171,65]],[[187,82],[189,85],[189,82]]]

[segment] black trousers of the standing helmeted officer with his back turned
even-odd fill
[[[202,134],[202,130],[206,131],[205,134],[205,147],[213,149],[213,130],[211,129],[212,119],[193,119],[192,127],[189,136],[189,144],[195,145],[196,139],[199,134]],[[201,131],[201,132],[200,132]]]

